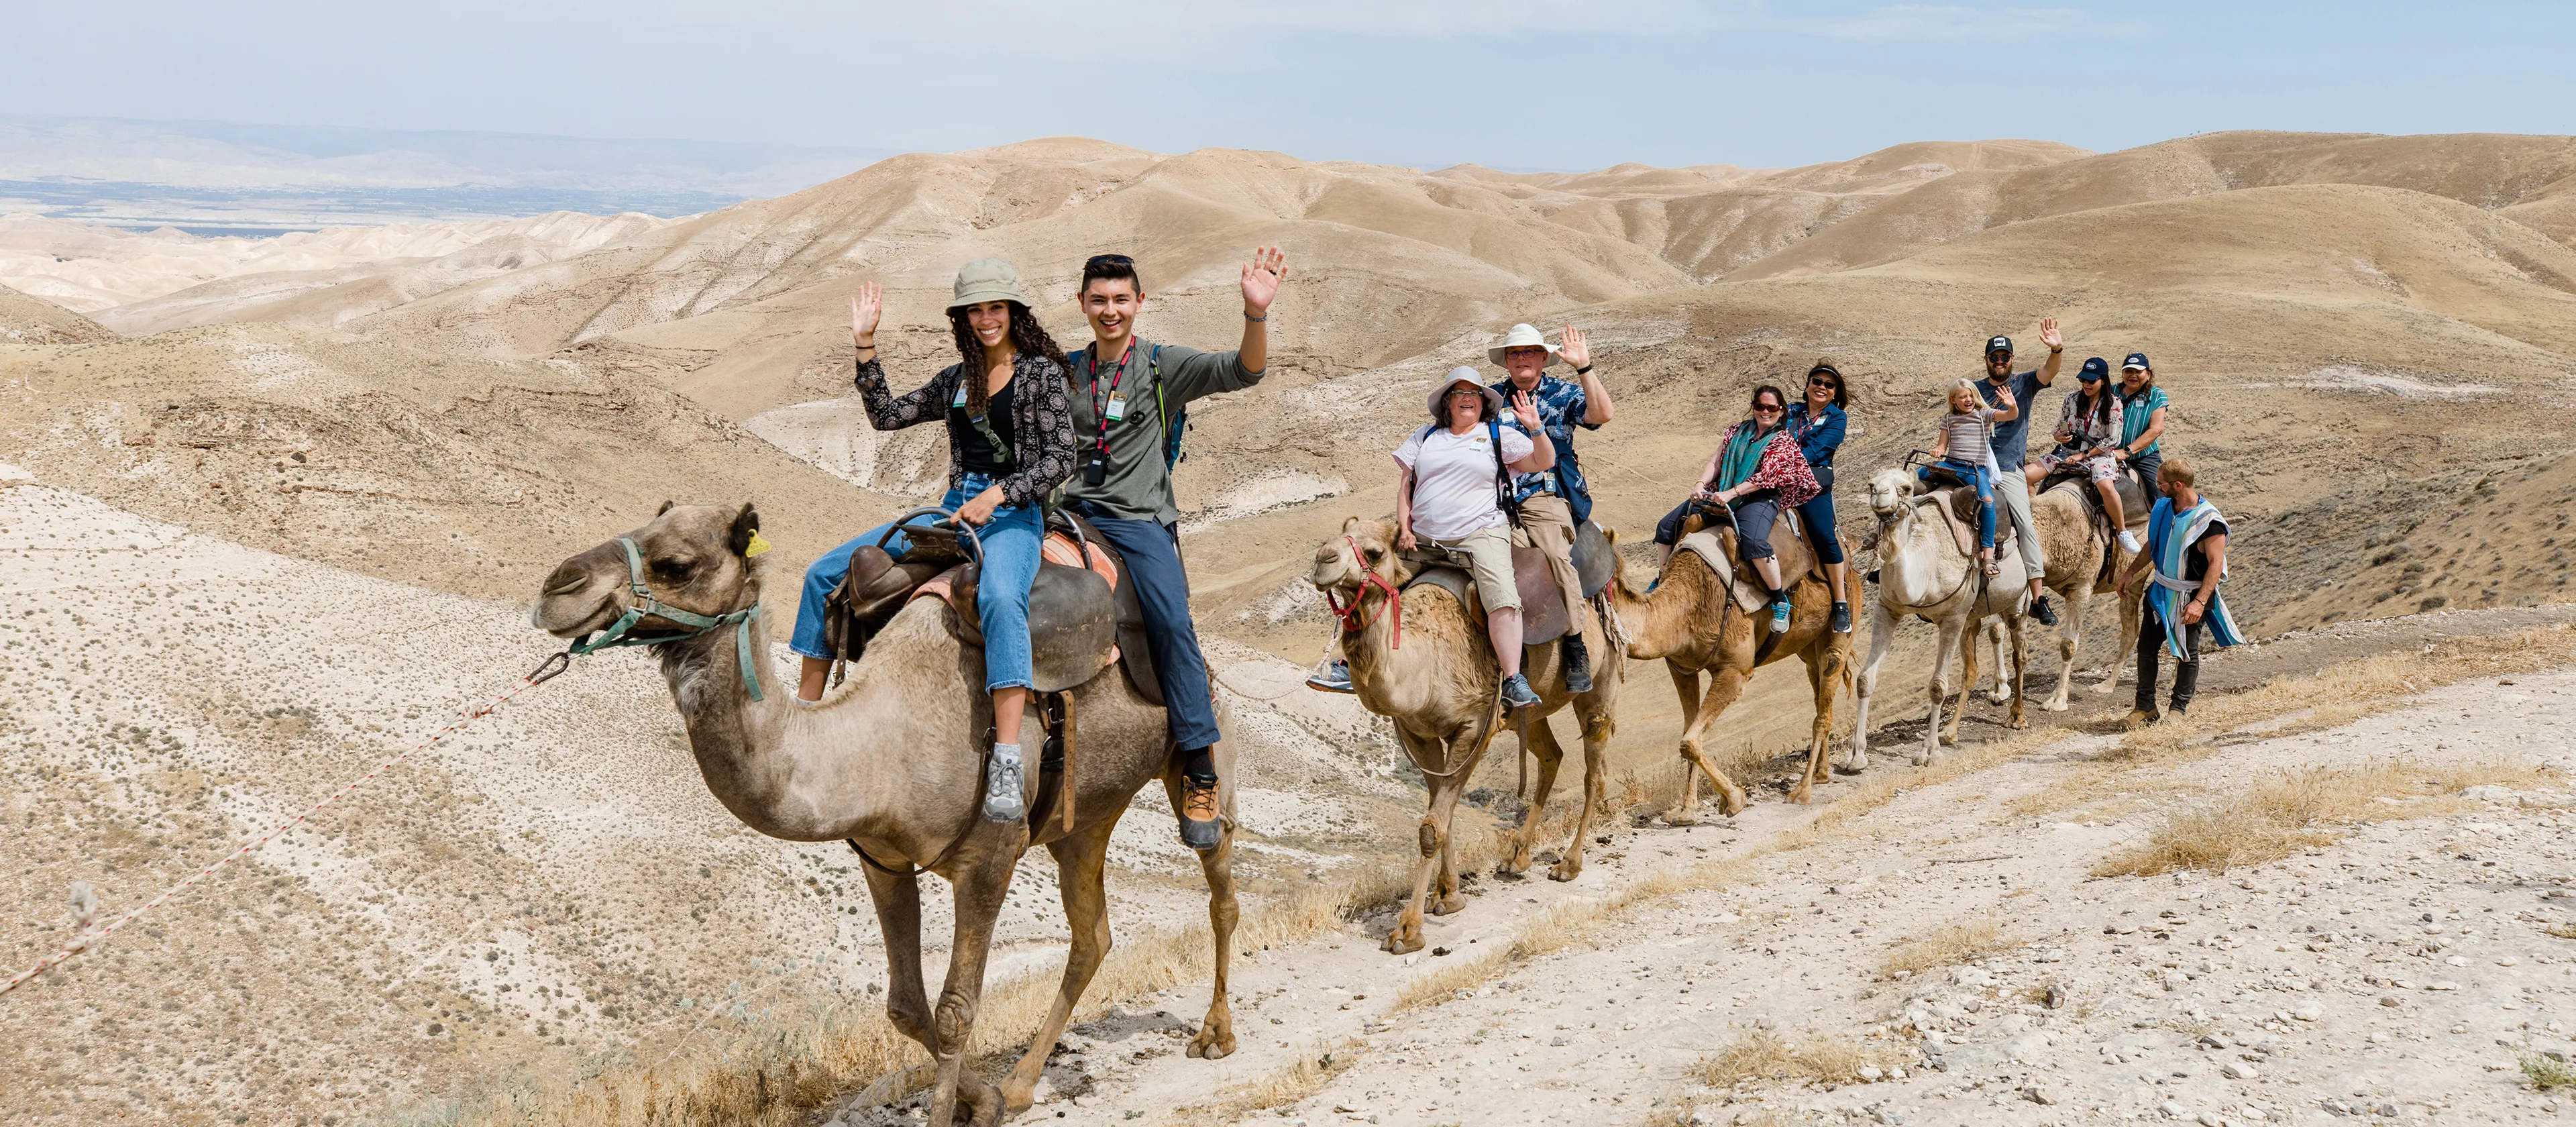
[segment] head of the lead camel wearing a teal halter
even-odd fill
[[[768,551],[768,540],[760,540],[760,512],[750,504],[662,502],[662,512],[626,538],[636,543],[644,587],[654,600],[708,618],[760,600],[752,556]],[[556,638],[580,638],[605,630],[626,615],[631,600],[626,548],[605,540],[556,564],[528,618]],[[657,630],[688,633],[662,618],[636,623],[639,636]]]

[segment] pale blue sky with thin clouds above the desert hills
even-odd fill
[[[1440,167],[2576,134],[2576,5],[247,0],[8,15],[13,113]]]

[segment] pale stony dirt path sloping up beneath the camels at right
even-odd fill
[[[2530,615],[2318,630],[2228,654],[2210,684],[2535,625]],[[1242,1050],[1224,1063],[1177,1052],[1203,985],[1079,1027],[1041,1088],[1048,1101],[1025,1119],[2548,1117],[2558,1104],[2524,1086],[2517,1052],[2576,1050],[2566,1040],[2576,944],[2543,931],[2576,903],[2558,893],[2576,813],[2555,805],[2568,800],[2555,787],[2393,805],[2391,821],[2226,877],[2089,872],[2174,811],[2306,767],[2406,756],[2424,769],[2512,759],[2576,772],[2561,736],[2571,720],[2576,672],[2463,682],[2339,728],[2231,733],[2200,759],[2123,774],[2099,762],[2117,736],[2071,733],[1901,793],[1847,826],[1857,834],[1811,849],[1767,852],[1824,803],[1757,803],[1731,826],[1623,826],[1574,885],[1481,877],[1463,913],[1432,921],[1427,952],[1378,952],[1383,916],[1255,952],[1234,991]],[[1728,857],[1741,867],[1708,865]],[[1533,921],[1558,926],[1641,880],[1705,888],[1628,906],[1448,1001],[1399,1003]],[[1901,942],[1981,921],[1999,924],[2002,942],[1976,962],[1886,978]],[[1780,1060],[1842,1052],[1878,1081],[1710,1088],[1698,1065],[1728,1047]]]

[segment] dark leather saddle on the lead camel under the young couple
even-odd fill
[[[958,543],[956,527],[904,525],[902,533],[909,548],[899,558],[884,543],[858,545],[850,574],[824,600],[824,648],[835,661],[858,659],[868,638],[917,597],[948,602],[958,643],[984,646],[976,612],[981,564]],[[1033,692],[1072,690],[1118,661],[1136,692],[1162,702],[1144,605],[1136,584],[1126,582],[1126,561],[1069,512],[1048,522],[1038,576],[1028,587],[1028,643]]]

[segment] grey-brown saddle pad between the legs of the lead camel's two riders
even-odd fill
[[[1048,533],[1038,545],[1038,579],[1028,584],[1030,690],[1064,692],[1090,682],[1118,661],[1118,566],[1100,545],[1082,551],[1074,538]],[[1084,566],[1090,564],[1090,566]],[[984,646],[976,612],[979,564],[958,564],[912,592],[938,597],[956,610],[956,633],[966,646]]]

